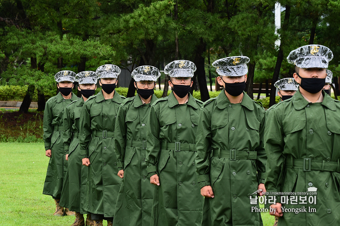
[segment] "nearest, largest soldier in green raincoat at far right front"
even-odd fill
[[[268,115],[265,185],[275,196],[270,214],[280,217],[279,226],[340,225],[340,102],[322,91],[332,58],[321,45],[291,51],[299,90]]]

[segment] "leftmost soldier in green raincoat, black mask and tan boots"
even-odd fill
[[[51,195],[55,202],[53,215],[73,215],[73,212],[59,205],[63,189],[64,173],[67,170],[67,161],[64,155],[63,143],[63,116],[67,105],[78,100],[77,95],[72,92],[75,73],[73,71],[60,71],[55,74],[54,79],[58,83],[59,93],[51,97],[45,105],[44,111],[44,142],[46,156],[50,158],[47,167],[43,194]]]

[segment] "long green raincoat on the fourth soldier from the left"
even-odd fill
[[[154,185],[147,177],[147,120],[151,104],[142,104],[139,95],[125,99],[118,108],[115,133],[118,169],[124,169],[119,190],[114,225],[149,226]],[[118,177],[118,176],[117,176]]]

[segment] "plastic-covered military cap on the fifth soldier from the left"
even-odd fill
[[[174,60],[167,64],[164,68],[164,73],[170,77],[193,77],[196,71],[196,66],[189,60]]]

